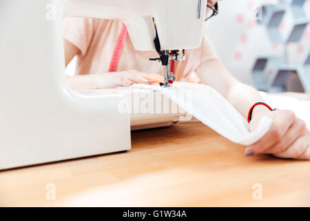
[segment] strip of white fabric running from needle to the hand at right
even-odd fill
[[[149,88],[166,95],[180,108],[200,122],[223,135],[231,142],[249,146],[257,142],[271,126],[272,119],[262,117],[256,131],[249,132],[249,124],[227,100],[210,86],[188,82],[174,82],[171,87],[134,84],[132,88]]]

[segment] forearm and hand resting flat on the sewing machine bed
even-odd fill
[[[127,87],[132,84],[154,84],[163,81],[161,75],[141,73],[138,70],[67,77],[68,85],[73,90]]]

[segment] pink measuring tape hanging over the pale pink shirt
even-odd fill
[[[118,38],[116,41],[116,46],[114,48],[114,52],[112,55],[109,72],[116,72],[116,70],[117,70],[118,61],[121,57],[127,34],[128,34],[127,28],[126,28],[125,24],[123,23],[121,33],[118,35]],[[172,73],[174,73],[174,60],[170,61],[170,71]]]

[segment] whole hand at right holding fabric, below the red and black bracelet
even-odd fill
[[[258,106],[257,106],[258,107]],[[293,111],[269,111],[264,106],[254,109],[250,131],[254,131],[260,118],[273,119],[269,131],[255,144],[245,149],[245,155],[271,153],[276,157],[310,160],[310,132],[302,119]]]

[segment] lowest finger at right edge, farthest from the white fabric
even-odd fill
[[[306,133],[302,135],[298,139],[296,139],[289,148],[281,153],[274,154],[276,157],[282,158],[293,158],[298,160],[310,160],[310,133]]]

